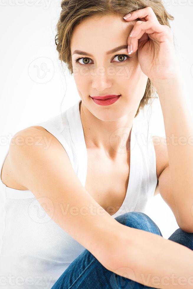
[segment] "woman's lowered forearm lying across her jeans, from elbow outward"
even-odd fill
[[[163,237],[120,224],[112,272],[153,288],[193,288],[193,251]]]

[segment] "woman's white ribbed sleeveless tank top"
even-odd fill
[[[62,117],[59,114],[35,125],[44,127],[58,139],[85,186],[87,150],[80,101],[64,111]],[[145,212],[147,201],[154,195],[157,185],[156,155],[152,136],[148,136],[148,141],[145,141],[146,137],[134,119],[127,193],[113,218],[130,211]],[[50,289],[85,249],[46,214],[31,191],[9,188],[2,180],[0,228],[0,288]]]

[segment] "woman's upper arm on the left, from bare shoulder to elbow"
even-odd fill
[[[48,147],[46,138],[50,137]],[[111,266],[108,250],[119,223],[85,190],[60,142],[49,132],[30,127],[17,132],[11,143],[9,161],[14,178],[32,191],[37,201],[48,198],[53,203],[53,210],[46,211],[50,218],[104,267]]]

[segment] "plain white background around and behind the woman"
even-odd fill
[[[192,114],[193,0],[164,1],[164,5],[175,18],[170,24],[184,83],[185,101]],[[55,25],[60,9],[60,1],[56,0],[0,0],[1,162],[16,132],[60,113],[65,90],[62,111],[79,99],[73,76],[65,70],[62,72],[56,51]],[[47,65],[46,70],[43,63]],[[147,109],[140,112],[139,121],[147,121]],[[159,99],[153,101],[149,111],[150,132],[164,137]],[[160,195],[149,203],[148,215],[159,226],[164,238],[168,238],[178,228],[171,209]]]

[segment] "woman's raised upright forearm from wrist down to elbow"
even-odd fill
[[[154,85],[163,113],[178,224],[192,233],[193,119],[185,101],[184,83],[180,73],[176,71],[173,78],[154,80]]]

